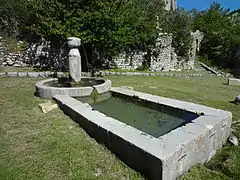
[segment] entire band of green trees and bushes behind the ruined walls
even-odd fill
[[[173,34],[178,56],[190,48],[191,30],[204,33],[200,56],[221,68],[240,69],[240,13],[214,2],[209,9],[167,12],[159,0],[1,0],[1,31],[29,41],[39,37],[59,48],[69,36],[82,39],[88,61],[101,67],[120,52],[144,50],[151,56],[158,34]],[[56,48],[55,47],[55,48]],[[149,63],[144,64],[144,68]]]

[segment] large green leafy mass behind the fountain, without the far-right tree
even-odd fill
[[[144,50],[151,54],[158,34],[157,16],[163,31],[173,33],[174,46],[180,56],[186,54],[189,44],[190,21],[186,12],[166,12],[159,0],[1,2],[2,30],[12,32],[15,30],[9,30],[9,27],[14,27],[18,31],[16,34],[27,40],[44,37],[58,48],[67,37],[80,37],[89,63],[95,66],[123,51]],[[12,21],[15,26],[4,23]]]

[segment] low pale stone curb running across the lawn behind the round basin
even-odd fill
[[[52,77],[54,72],[4,72],[0,73],[0,77]],[[63,75],[63,72],[57,72],[58,75]],[[96,75],[102,76],[169,76],[169,77],[201,77],[204,74],[177,74],[177,73],[141,73],[141,72],[111,72],[100,71]],[[91,76],[91,73],[82,72],[82,76]]]

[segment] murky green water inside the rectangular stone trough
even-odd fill
[[[119,97],[111,97],[91,106],[154,137],[160,137],[198,117],[194,113],[172,107],[147,107]]]

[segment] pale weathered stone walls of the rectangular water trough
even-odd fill
[[[122,161],[149,179],[176,179],[190,167],[210,160],[230,134],[230,112],[123,88],[111,88],[111,92],[200,115],[192,122],[155,138],[70,96],[54,96],[65,114],[78,122],[90,136],[104,143]]]

